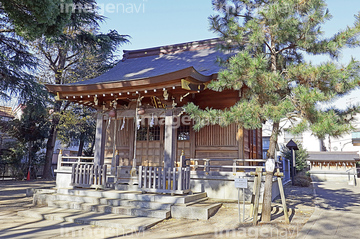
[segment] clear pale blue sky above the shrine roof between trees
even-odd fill
[[[98,0],[98,5],[119,6],[117,12],[104,10],[107,20],[101,30],[130,35],[126,50],[216,37],[208,31],[211,0]]]

